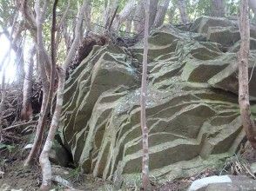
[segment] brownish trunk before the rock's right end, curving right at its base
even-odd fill
[[[239,59],[239,107],[246,136],[253,148],[256,148],[256,127],[251,119],[248,88],[248,57],[250,52],[250,23],[248,13],[248,0],[240,2],[240,36],[241,45],[238,53]]]

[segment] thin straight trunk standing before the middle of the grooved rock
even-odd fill
[[[140,93],[140,125],[142,132],[142,183],[145,191],[150,190],[149,180],[149,146],[148,146],[148,128],[146,126],[145,103],[147,89],[147,56],[148,56],[148,35],[150,22],[150,1],[145,4],[145,30],[144,30],[144,52],[143,52],[143,71]]]

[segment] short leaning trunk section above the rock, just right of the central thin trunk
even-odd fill
[[[157,28],[161,26],[165,21],[165,15],[168,10],[168,6],[171,0],[162,0],[158,5],[158,12],[154,22],[154,26]]]

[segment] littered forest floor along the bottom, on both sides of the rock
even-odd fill
[[[39,164],[33,165],[30,168],[24,168],[23,162],[27,156],[26,152],[20,152],[22,148],[17,148],[17,151],[0,152],[0,191],[33,191],[38,190],[42,182],[41,168]],[[242,149],[239,154],[227,159],[222,169],[207,169],[205,172],[192,177],[179,179],[175,181],[158,184],[155,182],[153,190],[155,191],[182,191],[186,190],[192,181],[211,175],[219,175],[222,171],[227,175],[250,175],[246,170],[253,162],[256,161],[256,151],[250,146]],[[64,168],[60,166],[52,166],[54,175],[59,175],[64,180],[71,183],[77,191],[91,190],[117,190],[109,181],[103,181],[100,178],[94,178],[92,175],[81,175],[77,168]],[[61,183],[54,182],[53,190],[66,190],[66,187]],[[120,190],[140,190],[138,187],[122,188]]]

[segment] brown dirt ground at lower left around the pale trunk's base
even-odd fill
[[[38,190],[41,182],[41,168],[35,165],[30,168],[24,168],[22,161],[7,162],[4,164],[4,174],[0,176],[0,191],[23,190],[34,191]],[[73,188],[77,190],[101,190],[109,183],[98,178],[93,178],[91,175],[78,175],[75,169],[62,168],[53,166],[54,174],[69,181]],[[54,184],[55,190],[64,190],[64,187],[59,184]]]

